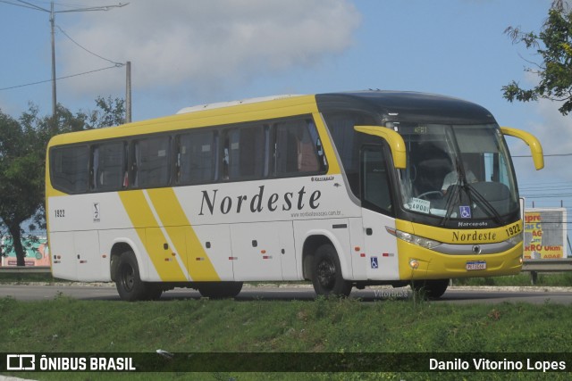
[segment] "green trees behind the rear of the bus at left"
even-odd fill
[[[38,107],[30,104],[20,120],[0,110],[0,222],[13,237],[18,266],[24,266],[21,244],[24,221],[45,227],[45,164],[49,139],[64,132],[121,124],[124,103],[120,98],[97,97],[97,109],[76,112],[57,107],[57,119],[39,117]],[[0,225],[1,227],[2,225]]]

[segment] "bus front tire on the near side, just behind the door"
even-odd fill
[[[322,244],[312,259],[312,284],[315,294],[348,296],[351,283],[341,275],[338,252],[332,244]]]

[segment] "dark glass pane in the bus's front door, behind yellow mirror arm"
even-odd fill
[[[363,206],[392,215],[390,179],[382,146],[366,145],[363,147],[361,178]]]

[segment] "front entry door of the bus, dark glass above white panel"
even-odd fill
[[[383,145],[361,150],[360,198],[366,254],[366,275],[371,280],[399,279],[397,242],[387,228],[395,228],[391,177]]]

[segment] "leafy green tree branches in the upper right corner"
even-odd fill
[[[503,96],[510,102],[550,99],[562,102],[559,112],[563,115],[572,111],[572,12],[568,4],[564,0],[554,1],[538,34],[513,27],[505,33],[514,44],[534,49],[542,62],[529,62],[533,67],[525,69],[538,77],[538,85],[523,88],[513,80],[502,87]]]

